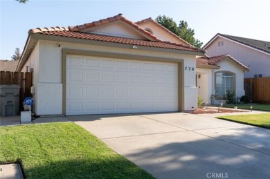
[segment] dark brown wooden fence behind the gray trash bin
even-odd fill
[[[23,110],[24,98],[30,96],[32,74],[30,72],[0,71],[0,85],[19,85],[19,109]]]

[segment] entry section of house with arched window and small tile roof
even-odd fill
[[[196,66],[198,95],[204,102],[224,102],[228,90],[236,97],[244,95],[244,73],[249,69],[230,55],[198,57]]]

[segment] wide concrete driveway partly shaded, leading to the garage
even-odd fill
[[[270,178],[270,130],[187,113],[68,117],[156,178]]]

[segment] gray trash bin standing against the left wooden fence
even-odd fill
[[[0,85],[0,115],[19,115],[19,86]]]

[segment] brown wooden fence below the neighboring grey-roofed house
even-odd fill
[[[253,102],[270,104],[270,77],[246,78],[244,90]]]

